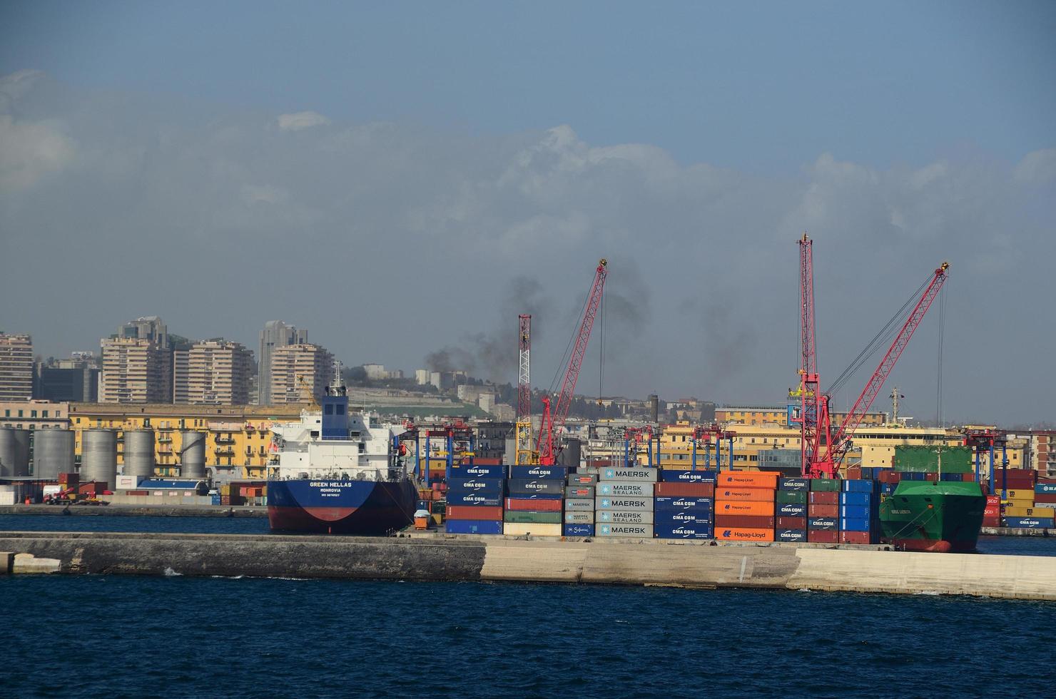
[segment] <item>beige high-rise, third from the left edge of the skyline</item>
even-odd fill
[[[252,353],[238,342],[207,340],[177,350],[173,402],[244,405],[249,402]]]

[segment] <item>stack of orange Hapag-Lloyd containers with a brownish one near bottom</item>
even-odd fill
[[[776,471],[721,471],[715,484],[715,539],[772,542]]]

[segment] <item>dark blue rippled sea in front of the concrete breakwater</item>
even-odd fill
[[[1056,604],[658,587],[0,579],[12,697],[1049,696]],[[60,623],[61,622],[61,623]]]

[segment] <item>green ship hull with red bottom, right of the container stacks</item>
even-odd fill
[[[904,480],[880,504],[881,540],[907,551],[975,551],[985,507],[977,483]]]

